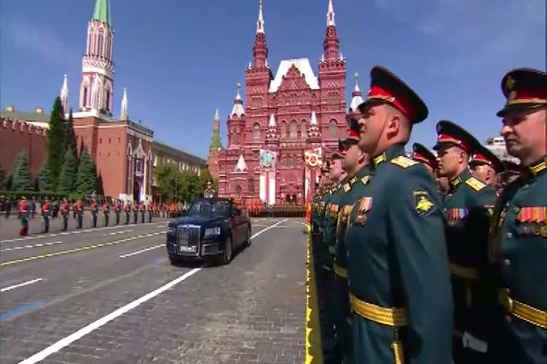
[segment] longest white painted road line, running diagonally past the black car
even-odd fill
[[[260,230],[259,232],[255,232],[254,235],[251,236],[251,238],[261,235],[261,233],[273,228],[276,225],[279,225],[285,222],[286,220],[288,219],[281,220],[278,223],[271,225],[269,228],[265,228],[263,230]],[[192,275],[202,270],[202,268],[205,267],[206,265],[207,263],[203,264],[199,268],[194,268],[191,271],[184,273],[182,276],[178,277],[177,279],[174,279],[171,282],[164,284],[162,287],[155,289],[154,291],[151,291],[149,294],[145,294],[145,296],[140,297],[140,299],[136,299],[135,301],[132,301],[129,304],[126,304],[125,306],[120,307],[119,309],[98,319],[97,321],[90,323],[88,326],[80,328],[80,330],[76,331],[75,333],[72,333],[66,338],[62,338],[61,340],[57,341],[53,345],[48,346],[47,348],[41,350],[40,352],[32,355],[30,358],[19,362],[19,364],[38,363],[39,361],[47,358],[49,355],[57,353],[62,348],[65,348],[66,346],[71,345],[71,343],[73,343],[74,341],[77,341],[80,338],[83,338],[83,336],[87,335],[88,333],[97,330],[98,328],[100,328],[101,326],[104,326],[106,323],[112,321],[113,319],[116,319],[119,316],[122,316],[123,314],[127,313],[128,311],[135,309],[135,307],[140,306],[140,304],[143,304],[146,301],[153,299],[155,296],[162,294],[163,292],[167,291],[167,289],[171,289],[172,287],[176,286],[180,282],[184,281],[184,279],[192,277]]]

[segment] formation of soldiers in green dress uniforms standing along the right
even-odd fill
[[[325,363],[547,363],[547,73],[501,80],[499,160],[375,66],[312,204]],[[494,112],[493,112],[494,114]]]

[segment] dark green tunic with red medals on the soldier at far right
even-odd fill
[[[547,156],[501,193],[489,248],[494,287],[532,308],[536,319],[543,316],[539,325],[524,321],[510,315],[507,300],[500,300],[493,307],[501,328],[495,363],[547,363]]]

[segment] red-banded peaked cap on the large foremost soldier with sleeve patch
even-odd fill
[[[429,113],[425,103],[410,86],[380,65],[375,65],[370,70],[370,90],[367,99],[358,106],[358,109],[363,113],[365,107],[377,102],[396,107],[412,124],[423,122]]]

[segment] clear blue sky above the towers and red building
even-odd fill
[[[411,142],[434,144],[435,124],[450,119],[483,140],[497,136],[507,70],[546,69],[545,0],[334,0],[340,50],[347,60],[346,100],[353,72],[368,90],[370,68],[384,65],[420,93],[429,118]],[[94,0],[1,1],[0,106],[51,109],[63,74],[69,104],[78,107],[81,57]],[[317,75],[327,0],[264,0],[269,64],[310,58]],[[207,156],[214,109],[226,115],[236,82],[252,59],[258,0],[112,0],[115,90],[120,114],[155,137]],[[244,91],[244,90],[243,90]]]

